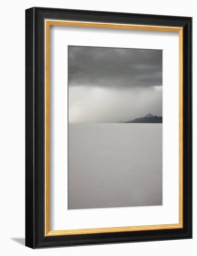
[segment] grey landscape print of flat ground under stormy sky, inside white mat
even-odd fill
[[[162,50],[68,46],[68,209],[162,203]]]

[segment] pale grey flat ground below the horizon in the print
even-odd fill
[[[162,124],[70,123],[68,209],[162,205]]]

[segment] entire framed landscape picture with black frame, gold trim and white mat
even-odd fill
[[[26,246],[192,237],[192,18],[26,10]]]

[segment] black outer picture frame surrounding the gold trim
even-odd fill
[[[183,27],[183,228],[45,236],[45,19]],[[33,7],[26,10],[26,246],[192,238],[192,18]]]

